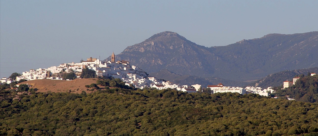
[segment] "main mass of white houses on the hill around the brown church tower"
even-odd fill
[[[62,80],[59,77],[51,77],[52,74],[61,72],[82,72],[83,68],[89,68],[96,72],[97,76],[110,76],[123,80],[126,85],[133,85],[136,88],[155,87],[157,89],[178,88],[176,84],[169,81],[159,80],[156,77],[148,76],[145,71],[136,67],[130,66],[128,61],[115,62],[114,53],[111,56],[111,61],[101,62],[96,58],[88,58],[80,63],[63,63],[59,66],[53,66],[46,69],[31,69],[29,72],[23,72],[21,76],[17,76],[16,80],[37,80],[37,79],[56,79]],[[79,77],[78,77],[79,78]],[[197,87],[197,85],[194,85]],[[197,87],[199,89],[199,87]],[[196,92],[193,86],[179,87],[179,91]]]

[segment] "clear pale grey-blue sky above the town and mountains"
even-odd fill
[[[206,47],[318,31],[318,1],[0,1],[0,78],[93,57],[164,31]]]

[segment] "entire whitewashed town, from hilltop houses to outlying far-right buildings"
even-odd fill
[[[97,58],[87,58],[86,61],[81,60],[79,63],[62,63],[59,66],[52,66],[49,68],[39,68],[39,69],[30,69],[30,71],[23,72],[21,76],[17,76],[15,81],[20,80],[41,80],[41,79],[51,79],[51,80],[63,80],[62,77],[54,76],[59,73],[78,73],[80,74],[83,69],[88,68],[93,70],[96,73],[96,77],[113,77],[121,79],[128,86],[134,86],[135,88],[148,88],[154,87],[156,89],[176,89],[178,91],[195,93],[202,92],[202,86],[199,84],[195,85],[177,85],[172,82],[157,79],[156,77],[149,76],[144,70],[138,68],[136,66],[131,66],[128,61],[115,61],[114,52],[111,55],[111,61],[102,62]],[[78,75],[77,74],[77,75]],[[311,73],[311,75],[315,75],[315,73]],[[76,78],[81,78],[77,76]],[[299,77],[295,77],[293,81],[284,81],[284,88],[295,84],[296,80]],[[70,80],[70,79],[66,79]],[[10,84],[14,82],[14,80],[9,78],[2,78],[1,84],[7,83]],[[222,83],[218,85],[208,85],[207,89],[211,90],[210,93],[217,92],[237,92],[240,94],[249,94],[249,93],[257,93],[262,96],[269,96],[270,93],[273,93],[274,90],[271,87],[266,89],[262,89],[261,87],[252,87],[247,86],[245,88],[242,87],[231,87],[224,86]]]

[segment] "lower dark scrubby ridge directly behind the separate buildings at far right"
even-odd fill
[[[257,80],[254,83],[251,83],[250,86],[267,88],[269,86],[281,86],[286,80],[292,80],[296,75],[304,74],[307,75],[310,73],[318,74],[318,67],[315,68],[304,68],[298,70],[285,70],[280,71],[274,74],[269,74],[265,78]]]

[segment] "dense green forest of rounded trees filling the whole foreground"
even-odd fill
[[[115,79],[97,84],[124,86]],[[16,100],[9,94],[17,92],[1,88],[0,135],[318,135],[316,103],[124,88],[90,94],[29,89]]]

